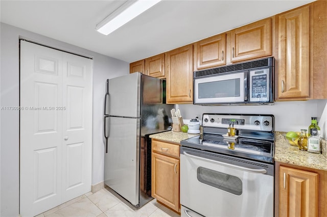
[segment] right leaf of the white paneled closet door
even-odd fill
[[[92,60],[63,55],[63,200],[91,191]]]

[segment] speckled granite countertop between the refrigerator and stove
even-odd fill
[[[171,142],[179,144],[180,141],[186,140],[192,137],[196,137],[199,134],[191,134],[187,132],[174,132],[173,130],[167,132],[161,132],[150,135],[151,139],[161,140],[164,142]]]

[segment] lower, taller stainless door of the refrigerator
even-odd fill
[[[136,118],[109,117],[104,183],[131,204],[139,201],[139,126]]]

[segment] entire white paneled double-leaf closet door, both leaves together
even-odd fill
[[[68,101],[71,99],[66,97],[66,93],[72,82],[68,82],[70,78],[67,59],[65,52],[26,41],[20,42],[22,216],[34,216],[90,191],[92,62],[83,58],[84,80],[88,85],[82,84],[78,78],[78,73],[81,73],[78,66],[82,64],[71,64],[75,66],[70,66],[71,77],[75,76],[79,82],[74,84],[76,89],[71,91],[73,101]],[[79,120],[76,114],[69,117],[69,109],[72,110],[73,107],[76,112],[81,101],[85,107],[84,112],[79,114],[85,116]],[[67,121],[69,118],[73,122]],[[75,125],[72,127],[68,122]],[[67,132],[74,127],[75,131],[79,131],[85,125],[87,127],[82,127],[84,135],[81,138],[75,138],[80,137],[80,134]],[[79,191],[70,191],[77,188]]]

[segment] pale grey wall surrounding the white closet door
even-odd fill
[[[0,103],[19,105],[19,36],[52,47],[94,58],[92,184],[103,181],[103,106],[107,78],[129,73],[129,64],[74,45],[1,23]],[[87,43],[87,41],[85,42]],[[108,48],[110,49],[110,48]],[[0,216],[19,213],[19,112],[1,111]]]

